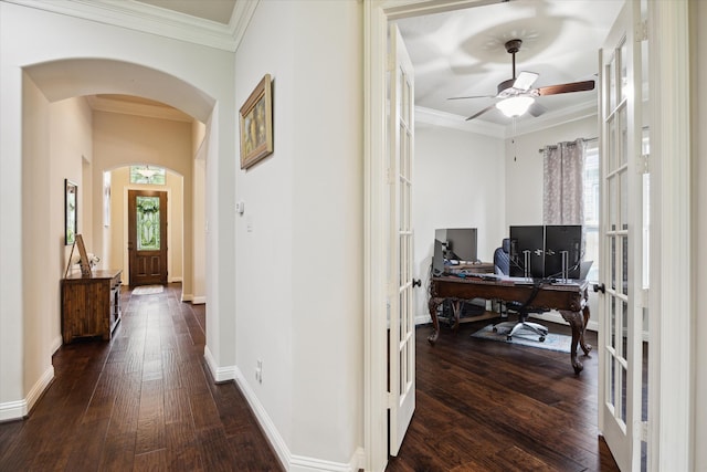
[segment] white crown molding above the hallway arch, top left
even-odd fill
[[[228,25],[134,0],[4,1],[234,52],[260,0],[236,2]]]

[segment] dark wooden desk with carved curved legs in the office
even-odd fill
[[[490,279],[490,277],[487,277]],[[484,280],[481,276],[440,276],[432,277],[430,284],[430,315],[434,332],[428,340],[434,345],[440,335],[440,321],[437,318],[437,306],[444,300],[452,302],[486,298],[499,300],[504,302],[525,303],[530,298],[534,290],[531,282],[525,279],[499,277],[496,280]],[[557,310],[566,322],[572,327],[572,344],[570,346],[570,360],[576,374],[582,371],[583,366],[577,359],[577,345],[579,344],[588,355],[592,346],[584,343],[584,329],[589,322],[589,305],[587,281],[569,281],[564,284],[540,283],[529,307],[542,310]],[[458,322],[458,321],[457,321]],[[455,324],[455,327],[458,323]]]

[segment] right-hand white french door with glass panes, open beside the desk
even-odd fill
[[[603,202],[599,429],[619,468],[641,468],[643,168],[639,0],[626,0],[600,50]]]

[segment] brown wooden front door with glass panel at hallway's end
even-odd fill
[[[167,283],[167,192],[128,190],[130,286]]]

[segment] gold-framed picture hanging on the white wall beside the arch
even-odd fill
[[[265,74],[240,109],[241,169],[273,153],[273,90]]]

